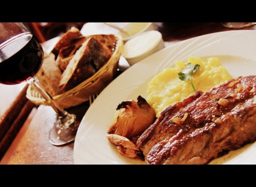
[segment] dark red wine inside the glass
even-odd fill
[[[23,33],[0,44],[0,83],[15,85],[33,77],[40,69],[44,53],[37,38]]]

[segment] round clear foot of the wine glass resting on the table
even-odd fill
[[[75,115],[69,114],[68,116],[68,125],[67,120],[58,119],[49,133],[49,141],[53,145],[65,145],[75,140],[76,132],[79,126],[79,123],[75,120]]]

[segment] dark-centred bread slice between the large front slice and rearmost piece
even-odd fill
[[[69,61],[74,57],[75,52],[82,46],[82,44],[87,40],[88,37],[80,36],[73,39],[69,46],[62,47],[59,50],[59,55],[56,59],[56,64],[59,66],[60,70],[63,72],[69,64]]]

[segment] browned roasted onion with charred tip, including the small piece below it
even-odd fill
[[[106,136],[116,145],[118,152],[130,158],[141,158],[143,154],[135,143],[136,139],[156,119],[155,110],[140,95],[134,100],[123,101],[117,106],[117,118],[111,125]]]

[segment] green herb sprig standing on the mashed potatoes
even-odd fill
[[[178,77],[181,79],[181,81],[187,81],[189,79],[195,92],[196,92],[196,89],[192,83],[191,76],[193,73],[195,73],[199,69],[199,67],[200,67],[199,64],[187,63],[185,65],[185,68],[183,68],[182,71],[178,73]]]

